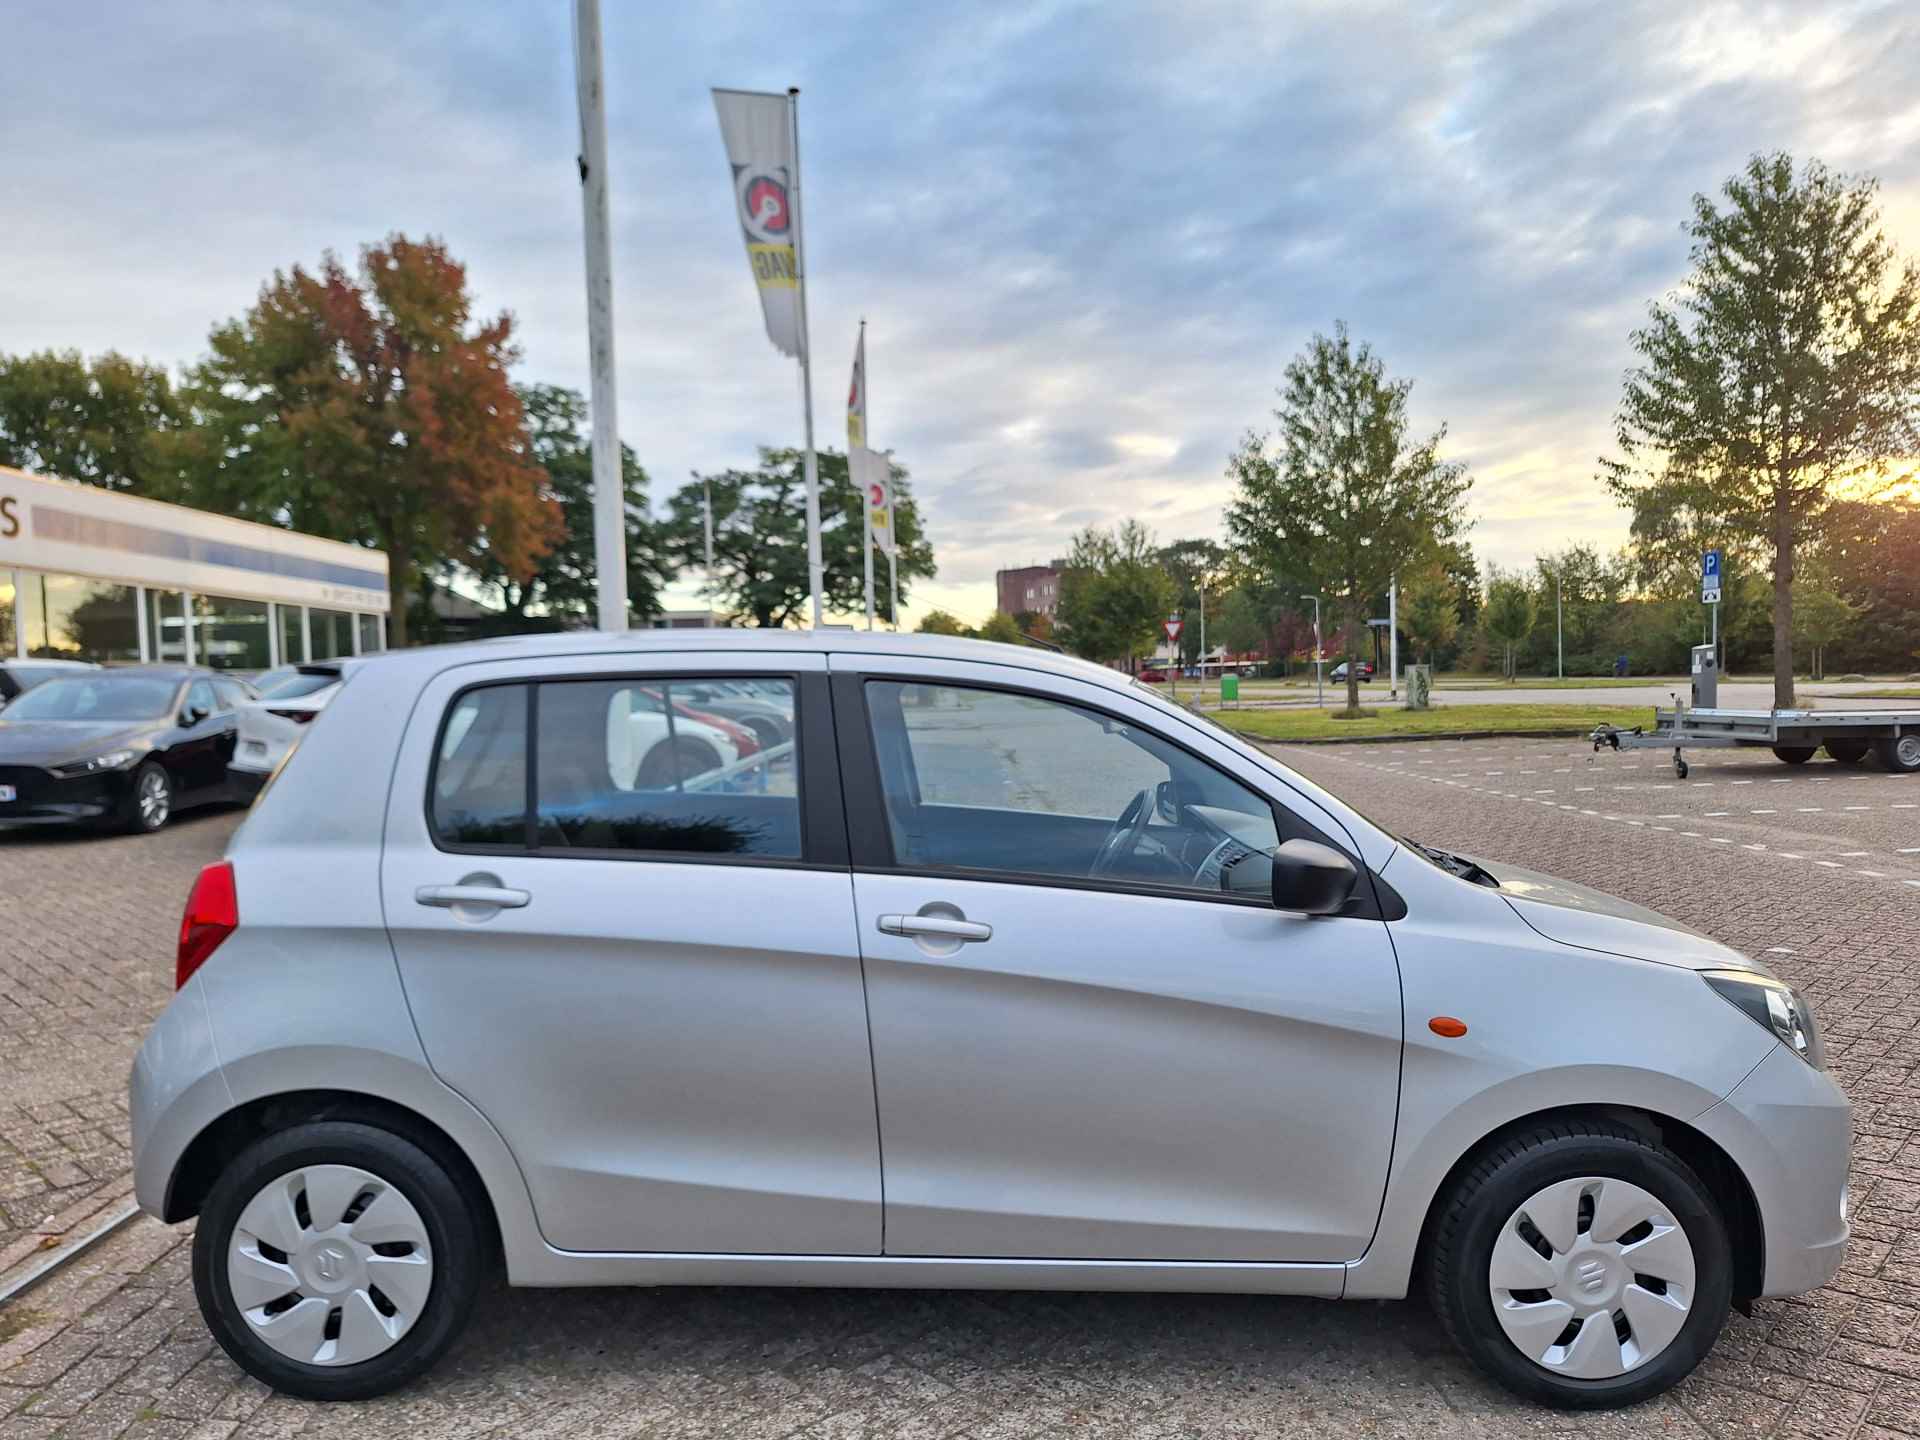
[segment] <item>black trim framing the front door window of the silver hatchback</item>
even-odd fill
[[[1041,685],[1023,685],[1018,682],[1000,680],[956,680],[943,674],[912,674],[912,672],[876,672],[876,670],[837,670],[833,674],[833,712],[837,720],[839,737],[839,760],[841,776],[845,778],[847,795],[847,829],[851,837],[852,868],[858,874],[885,874],[885,876],[910,876],[916,879],[960,879],[960,881],[979,881],[989,885],[1037,885],[1044,889],[1071,889],[1071,891],[1102,891],[1108,895],[1142,895],[1148,899],[1162,900],[1198,900],[1200,904],[1233,904],[1254,910],[1273,910],[1265,900],[1246,897],[1246,895],[1213,895],[1210,891],[1185,889],[1179,885],[1154,885],[1139,879],[1108,879],[1094,876],[1046,876],[1029,870],[991,870],[975,866],[904,866],[897,860],[893,852],[893,826],[887,818],[887,801],[883,791],[883,781],[879,774],[879,749],[874,739],[874,716],[868,705],[868,685],[870,684],[895,684],[895,685],[947,685],[952,689],[985,689],[1004,695],[1023,695],[1037,701],[1050,701],[1054,705],[1068,705],[1091,714],[1106,716],[1116,724],[1137,726],[1144,730],[1154,739],[1181,751],[1198,764],[1238,785],[1244,791],[1252,791],[1256,797],[1263,799],[1267,806],[1275,812],[1281,810],[1281,803],[1271,795],[1263,795],[1254,785],[1248,785],[1238,776],[1223,770],[1217,762],[1173,739],[1158,726],[1142,724],[1140,720],[1112,710],[1104,705],[1092,701],[1083,701],[1077,695],[1066,697],[1058,695]],[[1392,914],[1394,906],[1384,906],[1373,877],[1373,870],[1367,862],[1354,852],[1354,847],[1334,839],[1321,826],[1313,824],[1306,816],[1288,808],[1288,816],[1300,826],[1313,831],[1323,845],[1331,845],[1340,851],[1361,876],[1361,885],[1354,891],[1357,902],[1350,902],[1346,910],[1340,912],[1340,920],[1390,920],[1400,918]],[[1277,831],[1283,829],[1279,814],[1273,818]],[[1398,899],[1398,897],[1396,897]],[[1404,904],[1400,914],[1405,914]]]

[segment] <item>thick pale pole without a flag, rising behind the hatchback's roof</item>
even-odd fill
[[[599,0],[574,0],[574,88],[580,98],[580,209],[586,221],[588,359],[593,371],[593,580],[601,630],[626,630],[626,486],[612,384],[612,227]]]

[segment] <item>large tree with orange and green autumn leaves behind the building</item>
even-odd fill
[[[332,253],[276,271],[188,376],[173,490],[384,549],[392,645],[415,578],[444,559],[532,576],[564,518],[507,380],[513,317],[472,309],[467,269],[432,238],[388,236],[355,273]]]

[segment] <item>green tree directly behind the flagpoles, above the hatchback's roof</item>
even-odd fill
[[[708,595],[756,626],[787,626],[806,618],[812,605],[806,578],[806,476],[804,451],[760,449],[753,470],[720,470],[693,476],[668,501],[660,524],[662,551],[682,572],[699,574]],[[818,453],[820,465],[820,559],[824,601],[839,614],[866,614],[866,570],[860,538],[866,528],[866,495],[847,478],[847,457]],[[906,467],[893,470],[895,568],[900,603],[914,580],[933,576],[933,547],[920,522],[920,507]],[[707,576],[703,488],[712,490],[714,574]],[[887,557],[874,553],[876,614],[887,614]]]

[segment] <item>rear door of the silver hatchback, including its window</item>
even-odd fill
[[[795,741],[726,756],[649,705],[716,678]],[[386,920],[434,1069],[551,1244],[877,1254],[845,847],[822,657],[461,666],[420,697]]]

